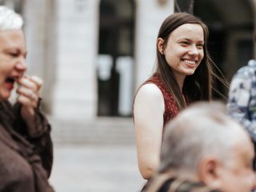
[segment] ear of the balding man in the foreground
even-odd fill
[[[220,189],[222,164],[218,158],[209,156],[203,158],[198,166],[198,176],[200,181],[204,182],[206,186],[214,189]]]

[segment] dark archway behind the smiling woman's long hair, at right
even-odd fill
[[[197,0],[194,1],[194,15],[209,27],[210,55],[230,81],[238,68],[254,58],[254,14],[250,1]],[[228,90],[218,81],[217,86],[227,97]]]

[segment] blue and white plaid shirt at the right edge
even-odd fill
[[[246,128],[256,142],[256,60],[250,60],[234,74],[227,111]]]

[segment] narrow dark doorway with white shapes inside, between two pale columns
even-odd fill
[[[134,68],[134,1],[100,2],[98,116],[130,116]]]

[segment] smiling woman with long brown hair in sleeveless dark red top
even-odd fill
[[[191,102],[211,100],[217,75],[207,38],[207,26],[191,14],[172,14],[160,27],[156,70],[134,98],[138,166],[145,179],[158,166],[166,122]]]

